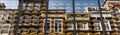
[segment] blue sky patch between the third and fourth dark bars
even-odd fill
[[[88,6],[97,6],[97,0],[75,0],[75,12],[84,13]]]

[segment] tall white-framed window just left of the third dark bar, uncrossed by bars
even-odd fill
[[[62,19],[55,19],[54,20],[54,28],[55,32],[63,32],[63,20]]]

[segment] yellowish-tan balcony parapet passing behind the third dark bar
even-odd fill
[[[73,20],[73,14],[67,14],[67,20]],[[89,15],[87,13],[76,13],[75,20],[89,20]]]

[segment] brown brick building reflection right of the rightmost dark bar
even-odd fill
[[[107,25],[109,25],[111,28],[112,28],[112,30],[113,31],[118,31],[120,28],[119,28],[119,22],[120,22],[120,20],[119,20],[119,18],[118,17],[120,17],[119,15],[120,15],[120,7],[119,7],[119,1],[120,0],[108,0],[109,2],[106,2],[106,4],[104,4],[104,6],[107,6],[108,7],[108,10],[109,10],[109,12],[110,12],[110,14],[111,14],[111,16],[112,17],[116,17],[117,19],[114,19],[114,18],[112,18],[112,19],[110,19],[110,22],[112,22],[112,23],[110,23],[111,25],[109,25],[109,24],[105,24],[106,26]],[[107,5],[108,4],[108,5]],[[112,7],[113,6],[113,7]],[[107,8],[106,7],[106,8]],[[106,17],[107,18],[107,17]],[[110,32],[110,30],[109,30],[109,32]],[[119,32],[110,32],[112,35],[119,35]],[[114,33],[116,33],[116,34],[114,34]]]

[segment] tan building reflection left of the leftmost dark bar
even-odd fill
[[[6,9],[4,3],[0,3],[0,35],[14,35],[19,11]]]

